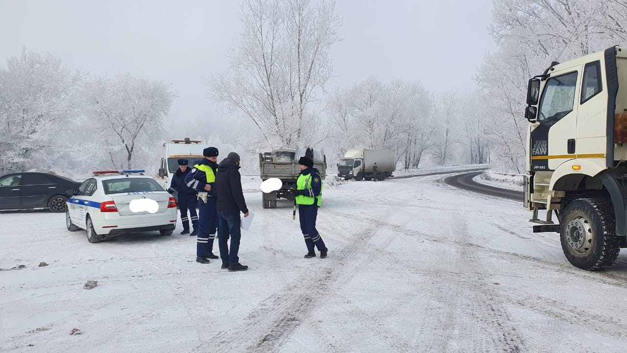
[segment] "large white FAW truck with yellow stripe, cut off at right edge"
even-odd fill
[[[578,268],[608,268],[627,247],[627,48],[551,63],[529,80],[527,105],[534,232],[559,232]]]

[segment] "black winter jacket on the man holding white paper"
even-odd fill
[[[218,210],[229,212],[248,212],[244,193],[241,191],[240,166],[225,158],[218,166],[216,188],[218,189]]]

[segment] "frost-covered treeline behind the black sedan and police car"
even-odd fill
[[[0,66],[0,174],[152,165],[174,97],[158,80],[72,72],[24,48]]]

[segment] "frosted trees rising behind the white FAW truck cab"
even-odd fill
[[[625,0],[495,0],[488,28],[497,50],[477,73],[483,129],[492,162],[525,168],[527,80],[552,61],[604,50],[627,41]]]

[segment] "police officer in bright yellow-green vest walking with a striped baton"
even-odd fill
[[[300,230],[303,232],[305,245],[307,245],[305,258],[314,258],[315,247],[317,247],[320,251],[320,258],[324,259],[329,249],[315,229],[318,207],[322,204],[322,178],[320,171],[314,168],[314,161],[308,156],[301,157],[298,164],[300,164],[300,175],[296,182],[297,189],[292,188],[290,192],[295,196],[298,205]]]

